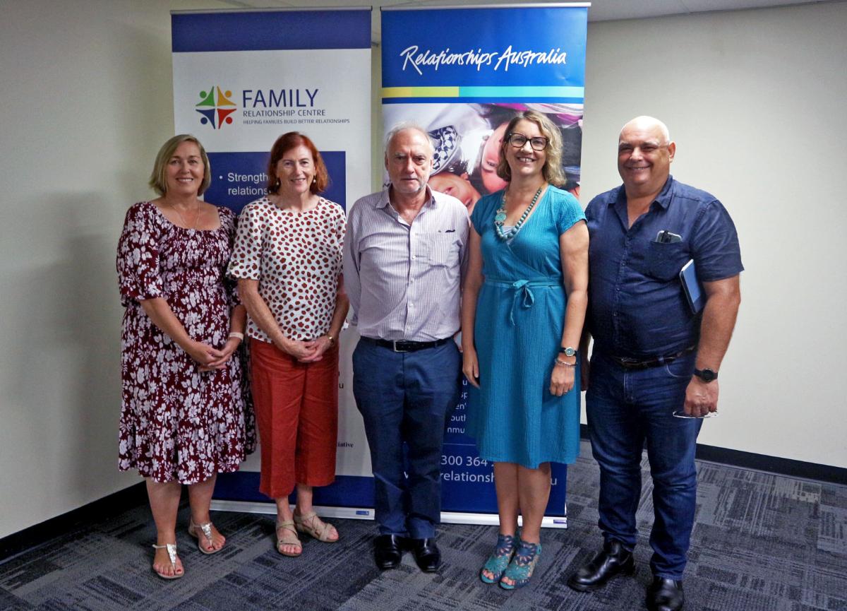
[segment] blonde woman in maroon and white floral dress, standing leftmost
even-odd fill
[[[183,575],[176,513],[188,485],[189,534],[202,553],[224,536],[209,518],[215,478],[255,446],[250,397],[236,348],[246,312],[224,268],[235,215],[198,196],[211,181],[194,136],[174,136],[156,157],[151,202],[126,213],[118,244],[123,402],[119,468],[147,480],[157,542],[153,570]]]

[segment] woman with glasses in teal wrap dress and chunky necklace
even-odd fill
[[[545,115],[509,123],[497,172],[473,209],[462,293],[468,432],[494,462],[500,534],[479,577],[524,586],[541,553],[550,463],[579,453],[579,358],[588,303],[588,229],[564,183],[562,136]],[[518,515],[523,529],[518,536]]]

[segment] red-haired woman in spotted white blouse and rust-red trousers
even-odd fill
[[[268,195],[241,211],[228,274],[247,308],[262,474],[277,507],[277,551],[302,553],[298,532],[335,542],[312,508],[313,486],[335,480],[338,334],[345,214],[318,194],[329,184],[317,147],[296,131],[270,151]],[[296,508],[288,496],[296,488]]]

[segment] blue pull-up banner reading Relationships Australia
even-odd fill
[[[534,109],[562,131],[563,187],[579,197],[588,7],[383,9],[385,132],[402,121],[429,131],[435,190],[458,197],[470,212],[479,197],[506,186],[495,173],[498,147],[509,120]],[[446,521],[495,522],[484,518],[497,512],[492,465],[465,434],[467,397],[462,392],[446,431],[442,509]],[[552,466],[545,525],[562,527],[567,468]]]

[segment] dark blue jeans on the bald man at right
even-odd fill
[[[600,464],[600,529],[606,542],[632,550],[641,496],[641,456],[653,478],[650,569],[680,580],[685,570],[697,502],[695,446],[700,419],[679,419],[695,354],[649,369],[623,369],[602,353],[591,358],[585,408],[594,458]]]

